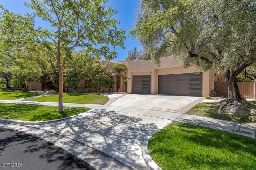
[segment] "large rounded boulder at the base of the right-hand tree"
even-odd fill
[[[225,111],[232,116],[246,117],[250,115],[250,111],[244,106],[230,105],[225,108]]]

